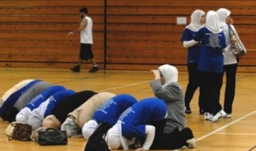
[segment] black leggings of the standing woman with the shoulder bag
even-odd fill
[[[235,90],[236,90],[236,71],[237,71],[237,63],[233,65],[224,66],[224,72],[226,72],[224,111],[227,114],[232,113],[232,104],[235,98]]]

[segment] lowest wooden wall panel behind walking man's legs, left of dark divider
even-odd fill
[[[95,59],[104,59],[104,52],[101,48],[93,48]],[[2,62],[58,62],[58,63],[74,63],[78,60],[79,49],[75,47],[67,48],[19,48],[19,47],[3,47],[0,52]],[[6,52],[8,53],[6,53]]]

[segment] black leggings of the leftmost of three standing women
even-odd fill
[[[188,85],[185,93],[185,106],[189,107],[189,104],[193,98],[195,90],[199,88],[200,85],[200,72],[198,71],[198,63],[189,63],[188,64]],[[203,108],[202,98],[199,95],[198,99],[199,108]]]

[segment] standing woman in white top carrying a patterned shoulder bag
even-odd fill
[[[231,118],[232,104],[235,97],[236,89],[236,70],[237,70],[237,59],[232,53],[232,47],[230,42],[229,30],[227,24],[232,24],[232,19],[230,18],[231,12],[225,8],[220,8],[217,10],[219,15],[220,28],[224,32],[226,37],[227,48],[223,52],[224,55],[224,72],[226,72],[226,89],[225,89],[225,100],[224,100],[224,111],[227,113],[226,118]],[[236,33],[237,31],[233,25],[230,25],[232,30]],[[238,37],[239,38],[239,37]],[[222,76],[224,75],[224,72]]]

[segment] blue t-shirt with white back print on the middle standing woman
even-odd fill
[[[212,33],[203,27],[195,34],[194,40],[201,41],[198,70],[222,73],[224,68],[222,49],[227,47],[224,32]]]

